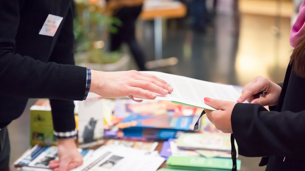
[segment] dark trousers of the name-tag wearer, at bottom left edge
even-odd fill
[[[8,128],[4,127],[0,130],[0,170],[9,170],[10,162],[10,139]]]

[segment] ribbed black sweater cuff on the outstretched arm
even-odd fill
[[[59,64],[57,96],[66,100],[83,100],[87,83],[87,69],[81,66]]]

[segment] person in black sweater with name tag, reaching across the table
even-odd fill
[[[22,114],[28,98],[50,99],[59,157],[50,167],[70,170],[83,161],[74,142],[73,100],[86,99],[88,92],[154,99],[154,92],[172,91],[165,81],[137,71],[98,72],[75,66],[70,0],[0,1],[0,23],[0,170],[9,167],[7,125]]]

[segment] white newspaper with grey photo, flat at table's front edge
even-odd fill
[[[124,146],[102,146],[73,171],[155,171],[164,162],[158,153]]]

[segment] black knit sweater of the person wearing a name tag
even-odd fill
[[[18,118],[28,98],[50,98],[54,130],[75,129],[86,68],[73,58],[70,0],[0,0],[0,127]],[[54,37],[39,35],[49,14],[64,17]]]

